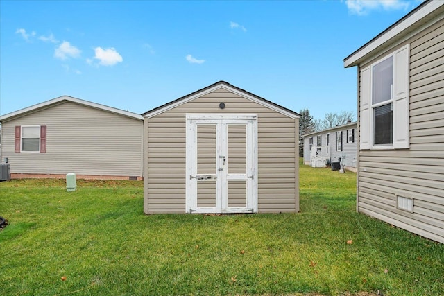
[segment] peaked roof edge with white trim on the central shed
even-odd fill
[[[192,101],[195,98],[199,98],[200,96],[204,96],[205,94],[209,94],[210,92],[214,92],[216,89],[221,89],[221,88],[227,89],[228,91],[233,92],[234,94],[237,94],[239,96],[247,98],[250,101],[253,101],[255,103],[258,103],[260,105],[268,107],[271,110],[274,110],[276,112],[279,112],[279,113],[289,116],[291,118],[300,117],[300,114],[298,114],[292,110],[289,110],[286,107],[282,107],[278,104],[275,104],[271,101],[266,100],[265,98],[261,98],[260,96],[256,96],[255,94],[247,92],[244,89],[240,89],[239,87],[235,87],[234,85],[230,85],[230,83],[225,82],[225,81],[216,82],[210,86],[204,87],[203,89],[199,89],[196,92],[193,92],[191,94],[187,94],[186,96],[182,96],[181,98],[178,98],[178,99],[171,101],[167,104],[156,107],[153,110],[149,110],[149,111],[145,112],[144,114],[142,114],[142,116],[149,118],[149,117],[155,116],[157,114],[167,112],[168,110],[171,110],[174,107],[177,107],[179,105],[182,105],[184,103]]]

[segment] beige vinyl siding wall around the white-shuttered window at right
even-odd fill
[[[407,40],[411,49],[410,148],[359,151],[358,176],[359,211],[441,243],[444,243],[443,32],[441,19]],[[413,198],[413,213],[396,208],[397,195]]]

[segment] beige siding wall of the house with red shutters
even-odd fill
[[[46,153],[15,153],[16,125],[46,125]],[[142,176],[142,120],[66,102],[3,123],[11,173]]]

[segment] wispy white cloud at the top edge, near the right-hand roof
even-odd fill
[[[371,10],[407,10],[407,0],[345,0],[348,11],[353,15],[367,15]]]

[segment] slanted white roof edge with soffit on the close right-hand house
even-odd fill
[[[425,26],[425,24],[432,19],[436,18],[436,21],[438,21],[438,19],[442,19],[443,17],[444,1],[424,1],[420,4],[420,6],[411,10],[411,12],[402,17],[402,19],[386,28],[386,30],[379,33],[379,35],[361,46],[355,52],[348,55],[347,58],[343,59],[344,67],[347,68],[357,66],[357,64],[367,60],[367,58],[372,56],[374,53],[402,42],[416,30],[422,26]]]

